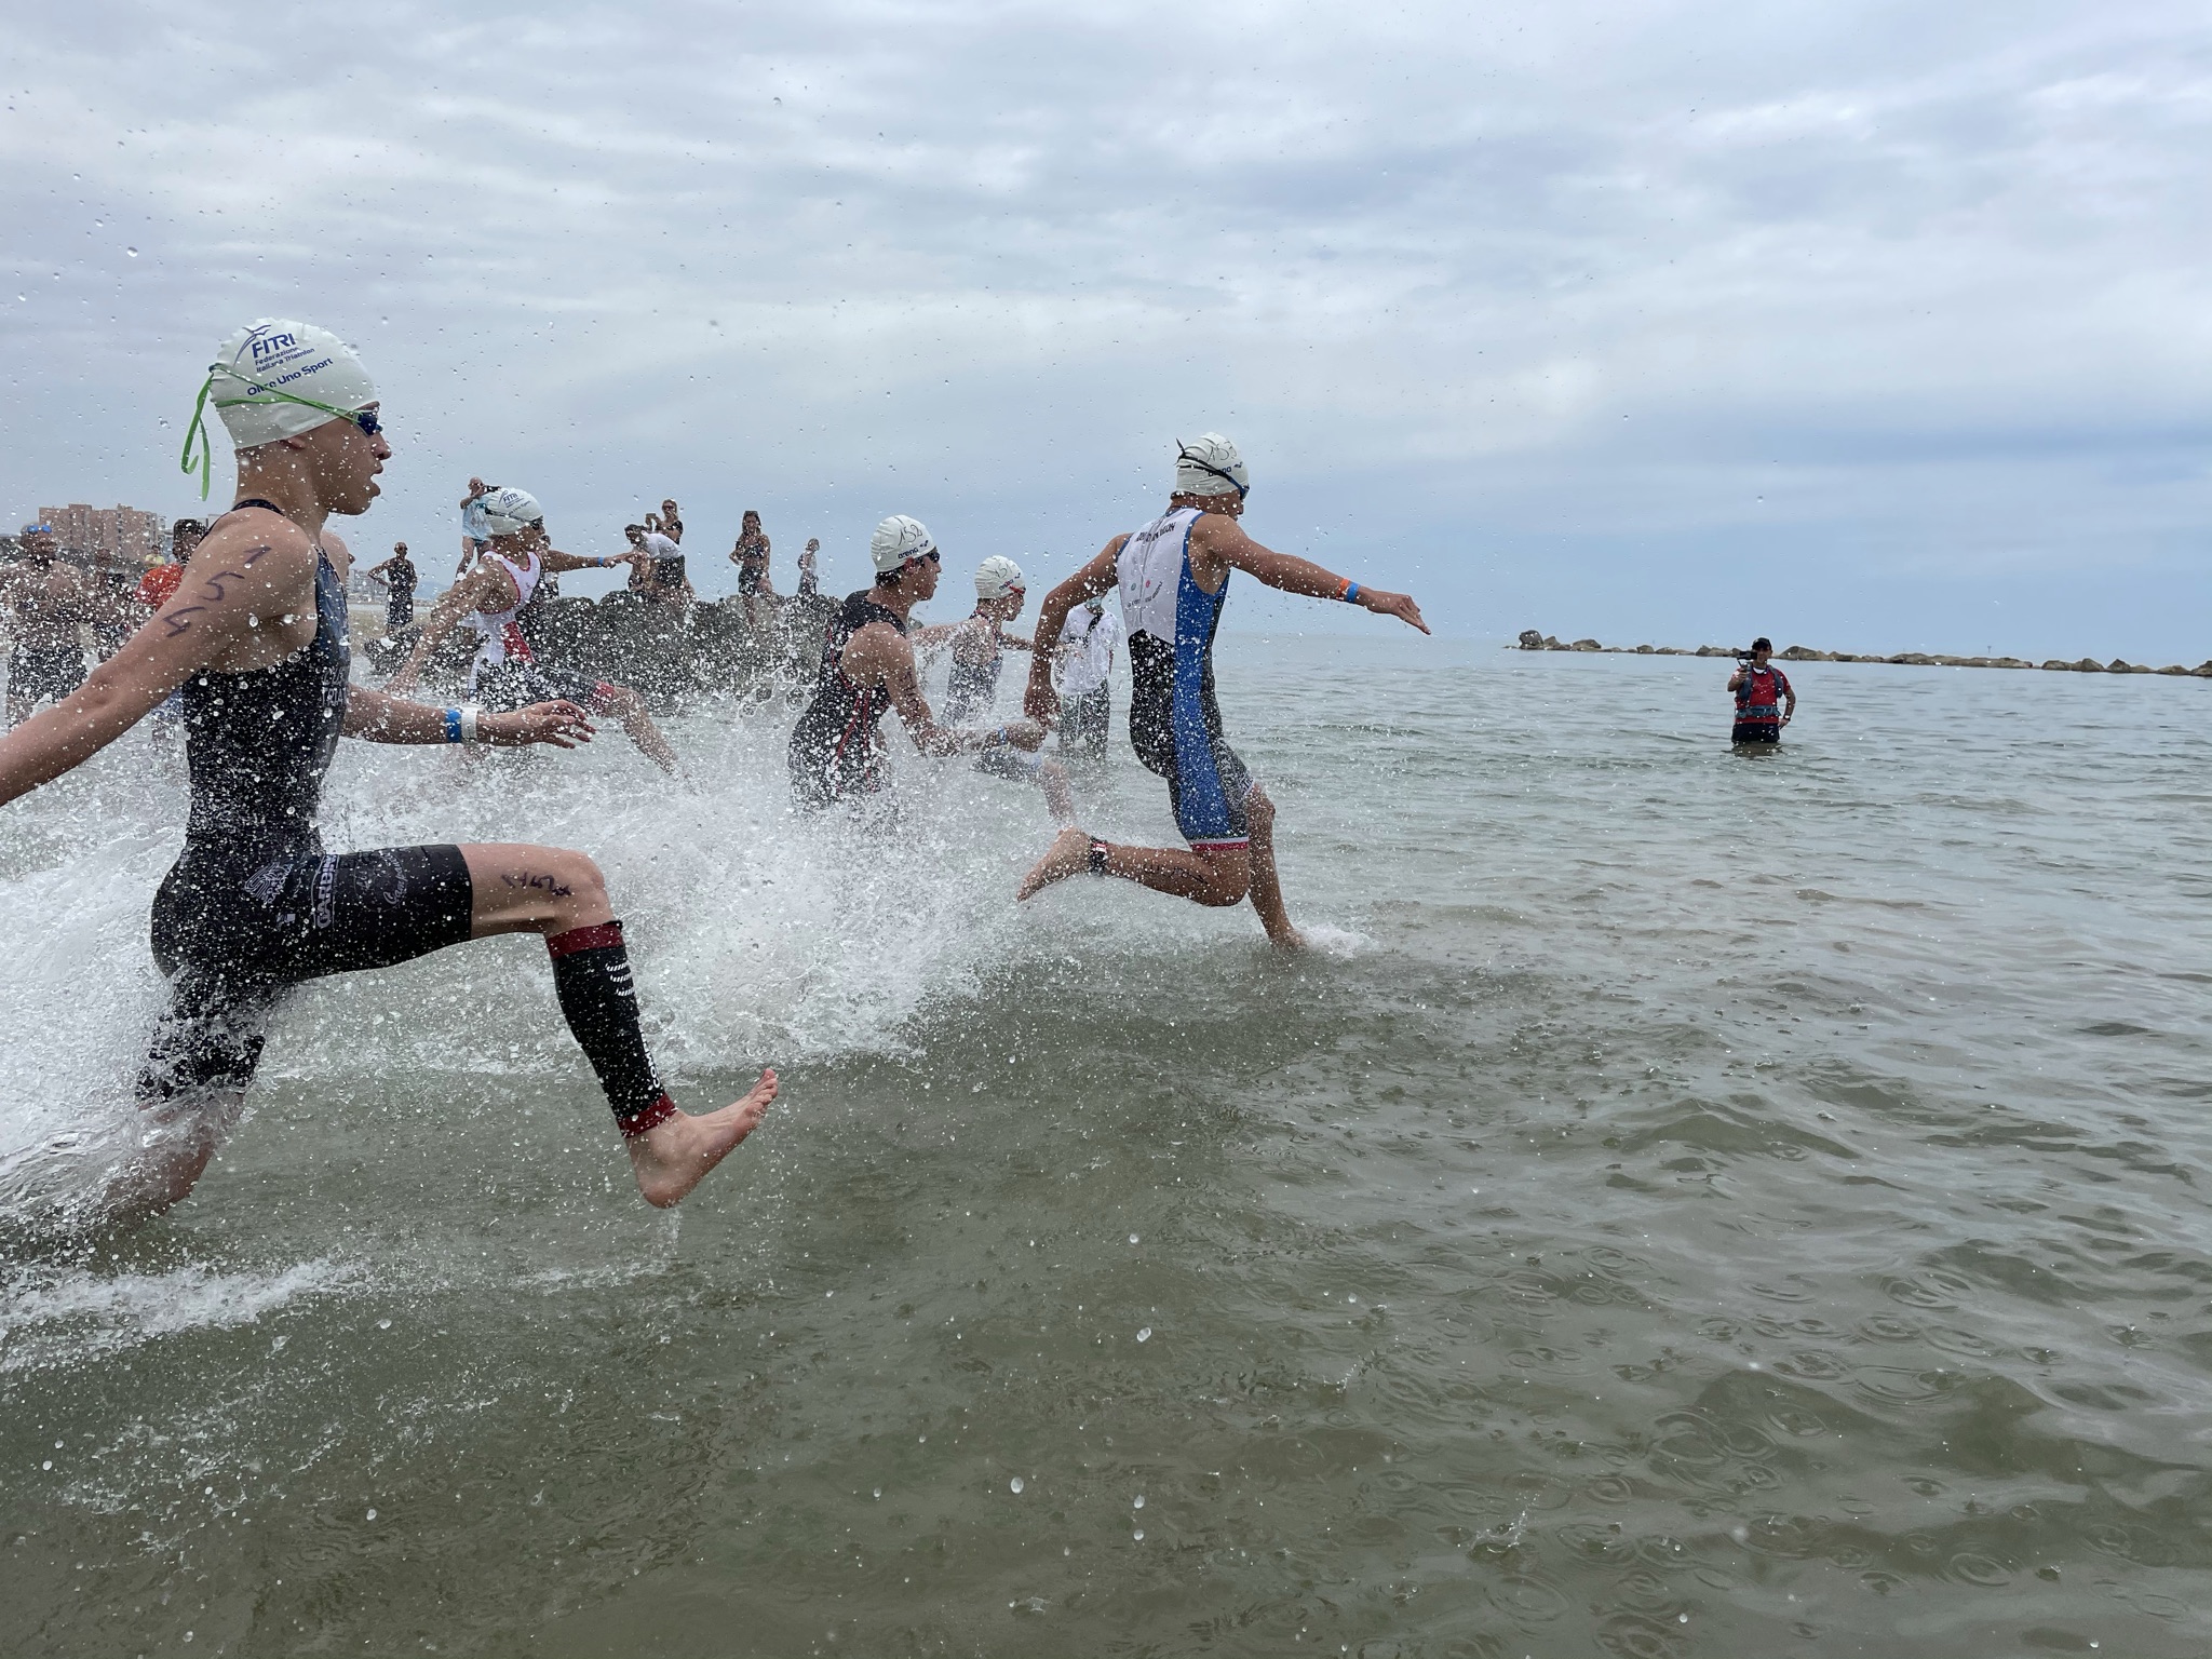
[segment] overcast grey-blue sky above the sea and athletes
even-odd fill
[[[1232,434],[1442,630],[2212,657],[2201,4],[15,7],[0,518],[188,511],[215,343],[619,546],[1053,580]],[[217,438],[217,489],[228,449]],[[1042,586],[1042,584],[1040,584]],[[942,606],[940,606],[942,608]],[[1380,626],[1232,602],[1230,622]]]

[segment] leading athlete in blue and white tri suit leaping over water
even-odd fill
[[[1219,431],[1177,445],[1168,511],[1141,531],[1113,538],[1044,597],[1037,615],[1037,635],[1057,639],[1068,611],[1119,582],[1133,677],[1128,741],[1137,759],[1168,781],[1168,803],[1190,852],[1117,847],[1082,830],[1062,830],[1018,898],[1088,869],[1201,905],[1239,905],[1250,896],[1274,945],[1303,942],[1283,909],[1274,869],[1274,803],[1228,745],[1214,706],[1214,628],[1230,571],[1245,571],[1283,593],[1345,599],[1422,633],[1429,624],[1405,593],[1329,575],[1245,535],[1237,520],[1250,484],[1237,445]],[[1057,706],[1051,653],[1037,653],[1029,666],[1029,714],[1048,721]]]

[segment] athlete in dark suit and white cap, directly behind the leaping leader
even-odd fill
[[[876,526],[867,553],[876,586],[847,595],[830,617],[814,699],[792,728],[792,794],[812,810],[876,794],[889,783],[887,708],[898,710],[922,754],[973,754],[993,743],[1035,750],[1044,741],[1035,721],[995,730],[938,726],[922,701],[907,639],[907,615],[938,591],[938,544],[920,520],[894,513]]]

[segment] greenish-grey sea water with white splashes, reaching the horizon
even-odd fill
[[[593,852],[646,1210],[535,940],[307,987],[115,1241],[175,757],[0,812],[0,1628],[113,1652],[2201,1655],[2199,681],[1225,639],[1314,949],[1013,883],[790,710],[347,743],[332,847]],[[1009,677],[1006,703],[1013,701]],[[1088,827],[1172,841],[1126,752]],[[190,1646],[186,1646],[190,1644]]]

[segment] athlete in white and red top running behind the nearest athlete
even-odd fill
[[[551,571],[606,571],[615,564],[630,564],[637,555],[615,553],[608,557],[584,557],[582,553],[560,553],[546,538],[544,509],[526,489],[493,489],[476,502],[484,526],[484,553],[469,575],[438,595],[438,604],[422,619],[407,661],[392,677],[392,695],[405,697],[422,679],[422,664],[445,644],[458,626],[476,630],[476,661],[469,664],[469,692],[484,699],[484,708],[513,710],[544,701],[582,703],[593,714],[606,714],[630,734],[630,741],[664,772],[677,770],[677,754],[668,748],[646,712],[646,699],[628,686],[606,679],[573,675],[538,661],[531,641],[522,637],[515,617],[538,593],[540,580]]]

